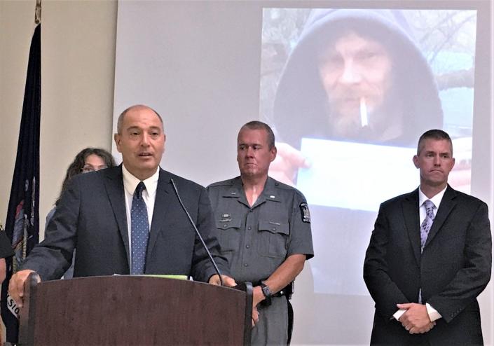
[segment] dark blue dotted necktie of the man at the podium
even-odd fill
[[[141,181],[135,188],[132,198],[130,219],[132,223],[132,275],[144,274],[146,250],[149,239],[149,221],[146,202],[142,199],[142,191],[146,188]]]

